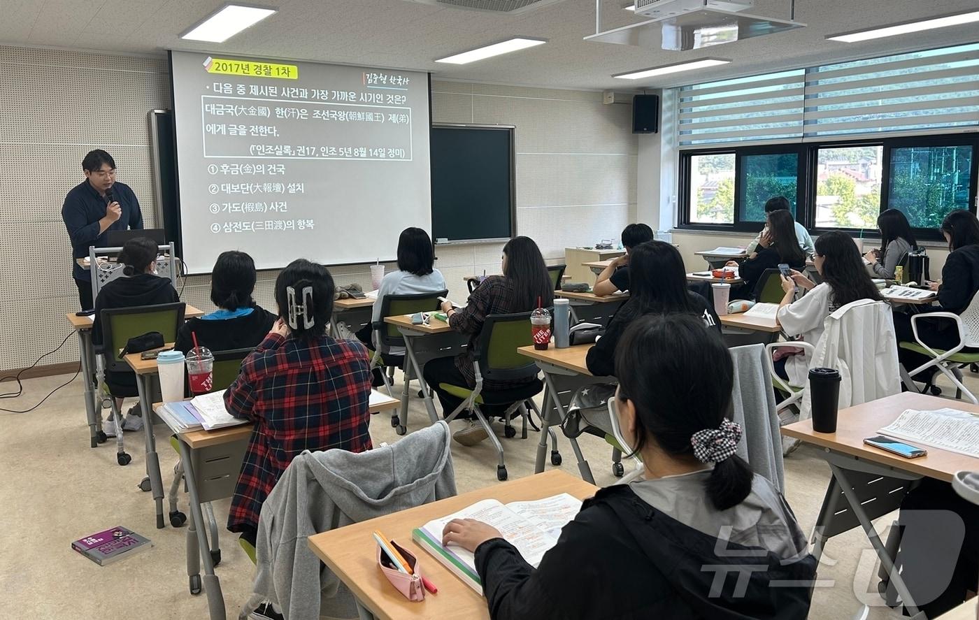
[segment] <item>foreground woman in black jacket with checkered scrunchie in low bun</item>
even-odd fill
[[[689,315],[641,317],[616,367],[619,424],[644,480],[585,500],[536,569],[486,523],[446,524],[443,544],[476,554],[489,616],[805,618],[816,559],[778,490],[734,454],[722,339]]]

